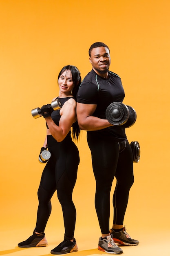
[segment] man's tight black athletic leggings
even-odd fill
[[[87,134],[96,180],[95,208],[102,234],[108,234],[110,190],[114,177],[113,223],[123,225],[130,188],[134,182],[133,157],[128,140],[115,142],[112,137]]]

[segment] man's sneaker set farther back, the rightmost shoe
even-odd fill
[[[132,239],[129,234],[126,232],[126,226],[120,232],[115,232],[113,229],[110,229],[110,234],[113,235],[113,240],[115,243],[121,245],[139,245],[139,241]]]

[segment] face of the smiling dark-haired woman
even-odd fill
[[[74,87],[72,74],[70,70],[65,70],[58,79],[58,85],[61,92],[71,92]]]

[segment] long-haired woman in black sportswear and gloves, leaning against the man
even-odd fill
[[[77,178],[79,152],[71,139],[71,127],[73,140],[78,139],[80,130],[75,98],[80,83],[81,76],[77,67],[71,65],[63,67],[58,75],[60,91],[57,99],[61,108],[53,111],[49,104],[41,108],[47,126],[47,135],[41,152],[48,148],[51,157],[44,168],[38,189],[39,205],[33,235],[19,243],[19,247],[48,245],[44,230],[51,214],[51,198],[57,191],[57,197],[62,205],[65,234],[64,241],[51,250],[51,254],[78,251],[74,238],[76,210],[72,193]]]

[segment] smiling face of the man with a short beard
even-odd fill
[[[107,74],[110,67],[110,53],[107,47],[93,48],[89,58],[93,70],[99,75]]]

